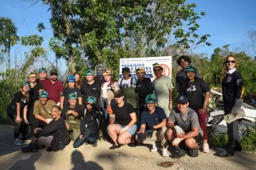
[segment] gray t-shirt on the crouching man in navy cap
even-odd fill
[[[177,126],[181,127],[185,133],[192,131],[193,127],[199,127],[199,133],[203,135],[199,125],[198,116],[194,110],[187,108],[184,114],[180,114],[177,107],[174,107],[168,118],[168,121],[174,122]]]

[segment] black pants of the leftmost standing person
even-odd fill
[[[17,111],[13,109],[11,106],[7,107],[7,115],[13,122],[15,122],[15,119],[17,117]],[[26,123],[23,119],[23,113],[20,112],[20,118],[22,119],[22,122],[15,122],[15,139],[19,138],[20,133],[23,137],[26,137]]]

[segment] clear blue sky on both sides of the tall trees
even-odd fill
[[[188,0],[187,3],[196,3],[196,11],[207,13],[199,20],[198,33],[211,35],[209,42],[212,43],[212,47],[196,48],[195,53],[212,54],[214,48],[223,47],[226,44],[230,44],[231,49],[248,49],[244,48],[244,44],[249,44],[245,33],[256,30],[255,0]],[[33,7],[30,7],[30,4],[20,0],[3,0],[1,2],[0,16],[9,17],[15,22],[19,29],[19,36],[38,34],[39,22],[44,22],[44,26],[47,28],[50,27],[48,7],[42,3]],[[52,31],[46,30],[39,35],[44,37],[44,46],[48,47]],[[251,56],[254,55],[252,52],[250,53]],[[54,59],[54,54],[49,53],[49,59]]]

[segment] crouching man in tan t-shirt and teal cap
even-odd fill
[[[52,121],[51,108],[55,106],[55,101],[48,99],[48,93],[43,90],[39,94],[39,99],[35,102],[33,114],[35,121],[33,127],[45,127]]]

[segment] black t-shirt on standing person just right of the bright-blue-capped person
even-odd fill
[[[86,103],[86,99],[88,99],[89,96],[93,96],[97,99],[97,101],[100,101],[101,96],[101,83],[100,82],[93,82],[92,84],[89,84],[87,81],[83,81],[81,84],[81,94],[83,94],[83,103]]]

